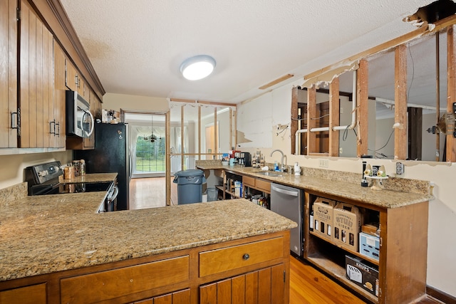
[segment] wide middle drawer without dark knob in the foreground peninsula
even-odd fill
[[[61,280],[61,303],[94,303],[189,279],[189,256]]]

